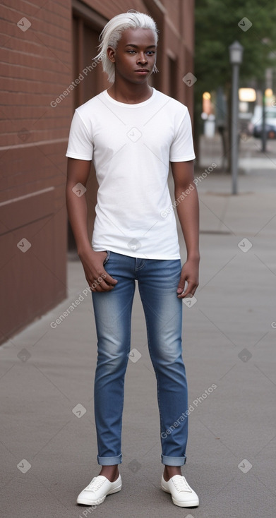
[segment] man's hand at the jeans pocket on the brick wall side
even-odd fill
[[[95,252],[90,248],[78,254],[91,291],[110,291],[117,284],[117,280],[104,270],[104,259],[107,252]]]

